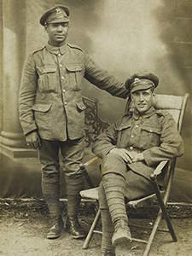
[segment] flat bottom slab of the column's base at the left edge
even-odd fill
[[[0,143],[0,153],[10,158],[37,158],[38,151],[29,148],[12,148]]]

